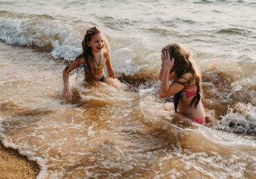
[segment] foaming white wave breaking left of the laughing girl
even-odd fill
[[[73,60],[82,34],[71,23],[48,15],[0,12],[0,39],[11,45],[48,47],[53,58]]]

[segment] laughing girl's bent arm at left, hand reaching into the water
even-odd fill
[[[71,89],[70,89],[69,83],[68,83],[69,73],[72,72],[75,68],[77,68],[82,63],[85,63],[84,58],[73,61],[73,63],[66,66],[62,72],[63,83],[64,83],[64,89],[63,89],[62,95],[65,96],[67,99],[73,98],[73,94],[71,92]]]

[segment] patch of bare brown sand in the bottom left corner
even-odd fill
[[[36,178],[39,166],[0,143],[0,178]]]

